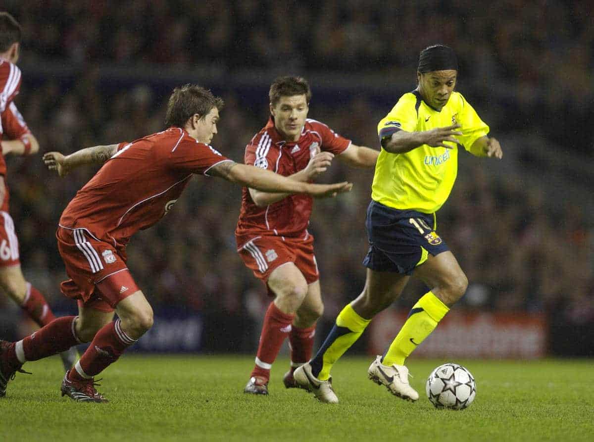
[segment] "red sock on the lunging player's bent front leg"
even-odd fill
[[[70,379],[88,379],[105,370],[108,365],[117,361],[124,350],[136,342],[122,330],[120,320],[103,326],[80,361],[68,372]]]

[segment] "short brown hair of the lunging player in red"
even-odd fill
[[[165,127],[184,127],[188,119],[197,113],[204,118],[211,109],[223,109],[225,103],[220,97],[215,97],[210,90],[197,84],[185,84],[173,89],[167,103]]]

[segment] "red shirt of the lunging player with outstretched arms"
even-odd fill
[[[208,175],[224,161],[231,160],[178,127],[121,143],[70,201],[60,226],[83,228],[96,239],[123,247],[135,232],[172,209],[192,173]]]

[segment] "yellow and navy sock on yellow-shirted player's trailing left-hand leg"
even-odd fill
[[[340,356],[345,353],[359,336],[365,330],[365,327],[371,322],[371,319],[365,319],[359,316],[355,310],[347,304],[336,318],[336,324],[328,333],[317,354],[311,360],[312,371],[321,381],[326,381],[330,377],[330,369],[334,362],[338,361]]]

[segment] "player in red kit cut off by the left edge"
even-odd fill
[[[13,99],[21,86],[21,71],[16,63],[20,55],[21,27],[8,14],[0,12],[0,287],[40,327],[55,319],[42,293],[23,276],[18,254],[18,238],[12,217],[8,213],[7,154],[30,155],[37,153],[39,143],[31,134]],[[61,353],[64,368],[76,362],[76,349]]]

